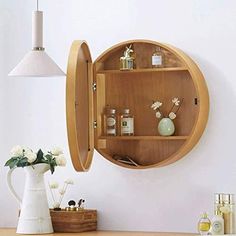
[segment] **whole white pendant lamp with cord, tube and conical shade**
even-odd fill
[[[43,47],[43,12],[32,13],[32,50],[8,74],[9,76],[49,77],[64,76],[65,73],[48,56]]]

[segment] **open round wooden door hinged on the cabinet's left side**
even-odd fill
[[[94,151],[92,59],[85,41],[74,41],[66,78],[66,119],[75,170],[87,171]]]

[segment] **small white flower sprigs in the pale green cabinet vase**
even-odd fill
[[[172,107],[168,113],[168,117],[171,120],[174,120],[176,118],[177,112],[180,109],[180,106],[183,103],[183,99],[180,101],[179,98],[173,98],[172,99]],[[151,108],[156,111],[156,118],[161,119],[163,117],[163,113],[161,111],[161,106],[162,106],[162,102],[159,101],[153,101]]]

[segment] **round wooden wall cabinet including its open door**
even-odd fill
[[[122,71],[120,57],[131,44],[135,69]],[[164,53],[162,68],[151,65],[157,46]],[[152,102],[161,101],[162,112],[168,116],[174,97],[183,99],[174,119],[175,133],[160,136]],[[130,109],[134,136],[105,135],[107,107],[115,108],[118,114]],[[198,66],[173,46],[148,40],[126,41],[92,63],[86,42],[75,41],[68,61],[66,109],[69,148],[77,171],[89,169],[94,147],[114,164],[143,169],[171,164],[194,147],[207,123],[209,96]]]

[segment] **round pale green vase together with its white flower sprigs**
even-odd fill
[[[156,111],[156,118],[161,119],[158,124],[158,132],[162,136],[170,136],[175,132],[175,126],[172,120],[176,118],[177,112],[180,109],[180,106],[183,103],[179,100],[179,98],[172,99],[172,107],[168,113],[168,117],[163,117],[160,107],[162,106],[162,102],[156,101],[153,102],[151,108]]]

